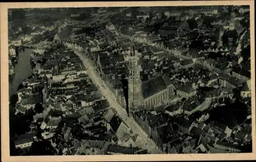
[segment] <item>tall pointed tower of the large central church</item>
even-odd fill
[[[140,64],[138,52],[135,51],[134,44],[130,47],[129,56],[129,113],[136,110],[138,106],[142,105],[141,93],[141,79],[140,79]]]

